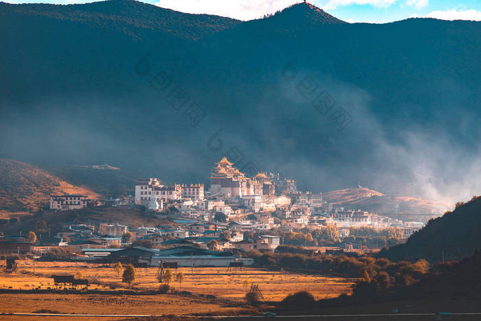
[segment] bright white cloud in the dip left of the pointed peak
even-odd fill
[[[155,5],[192,14],[216,14],[240,20],[261,18],[300,0],[160,0]]]

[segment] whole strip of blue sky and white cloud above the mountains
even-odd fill
[[[5,0],[3,0],[5,1]],[[9,3],[85,3],[85,0],[6,0]],[[260,18],[300,0],[145,0],[162,8],[208,13],[241,20]],[[481,0],[311,0],[308,1],[348,22],[385,23],[413,16],[481,21]]]

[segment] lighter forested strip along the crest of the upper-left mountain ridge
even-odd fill
[[[82,5],[0,3],[0,12],[32,17],[45,16],[59,21],[76,21],[98,27],[115,25],[120,32],[126,32],[124,27],[128,26],[188,39],[202,38],[240,23],[236,19],[210,14],[185,14],[135,0],[95,1]],[[131,34],[138,36],[135,31]]]

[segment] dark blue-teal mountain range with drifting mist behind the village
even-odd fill
[[[481,23],[265,19],[131,0],[0,3],[0,157],[208,181],[223,155],[302,190],[456,203],[481,187]]]

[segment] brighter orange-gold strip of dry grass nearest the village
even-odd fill
[[[18,261],[19,272],[16,274],[0,274],[0,288],[12,287],[12,289],[34,289],[41,286],[42,289],[53,287],[52,274],[72,274],[81,272],[84,278],[98,280],[101,285],[91,285],[90,289],[109,289],[111,285],[117,289],[126,289],[121,282],[122,274],[118,276],[111,267],[91,265],[86,263],[58,263],[36,262],[36,276],[33,276],[32,261]],[[313,294],[316,299],[333,298],[339,294],[350,293],[353,279],[335,278],[331,276],[312,276],[289,272],[271,272],[262,269],[244,268],[234,272],[228,272],[227,268],[198,267],[194,269],[179,268],[184,275],[181,284],[172,281],[170,285],[177,290],[190,291],[193,294],[211,294],[221,298],[243,298],[247,288],[245,280],[259,285],[265,300],[282,300],[288,294],[306,290]],[[156,276],[157,267],[137,269],[137,278],[133,283],[133,289],[151,290],[157,289],[159,281]],[[25,273],[25,274],[22,274]],[[176,271],[172,270],[175,276]]]

